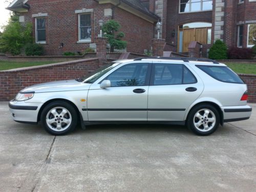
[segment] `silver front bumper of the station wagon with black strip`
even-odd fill
[[[9,102],[11,117],[17,122],[37,123],[37,116],[42,104],[11,100]]]

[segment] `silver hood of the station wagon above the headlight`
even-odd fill
[[[52,81],[40,84],[34,84],[20,92],[57,92],[57,91],[79,91],[88,90],[91,84],[78,82],[76,80]]]

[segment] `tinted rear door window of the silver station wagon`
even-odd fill
[[[155,64],[153,86],[196,83],[196,77],[181,64]]]

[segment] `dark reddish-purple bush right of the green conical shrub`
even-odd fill
[[[232,47],[228,49],[229,59],[251,59],[252,49]]]

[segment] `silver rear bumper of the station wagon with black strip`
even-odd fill
[[[249,119],[251,116],[252,108],[248,105],[242,106],[222,106],[223,121],[240,121]]]

